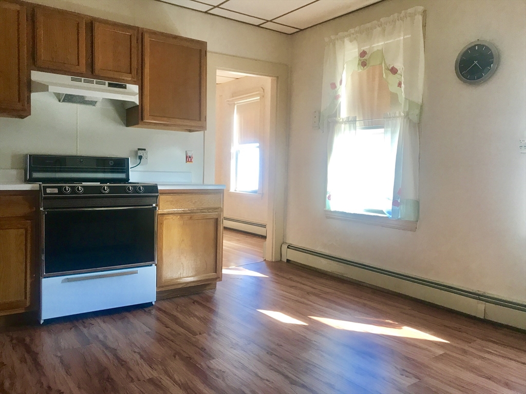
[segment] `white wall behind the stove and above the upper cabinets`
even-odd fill
[[[115,20],[170,34],[204,40],[208,51],[278,64],[290,62],[291,38],[255,26],[155,0],[30,0],[68,11]],[[108,104],[106,103],[106,106]],[[214,110],[214,92],[208,95]],[[210,119],[215,114],[207,112]],[[120,119],[120,120],[119,120]],[[214,122],[205,132],[158,131],[125,128],[123,112],[111,108],[79,107],[79,154],[131,155],[148,149],[147,171],[191,171],[193,182],[214,179]],[[76,154],[76,106],[32,97],[32,115],[24,120],[0,118],[0,168],[22,169],[25,153]],[[210,148],[211,154],[210,154]],[[194,163],[184,162],[185,150],[194,151]],[[181,159],[182,158],[182,159]],[[181,162],[181,160],[183,160]],[[205,176],[205,174],[211,174]]]

